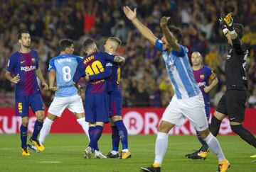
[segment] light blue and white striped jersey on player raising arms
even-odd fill
[[[162,52],[162,57],[166,63],[166,69],[174,86],[174,96],[178,99],[191,98],[200,93],[198,84],[196,84],[195,77],[191,65],[188,61],[188,49],[180,46],[180,52],[174,50],[168,54],[163,51],[163,42],[156,40],[156,49]]]

